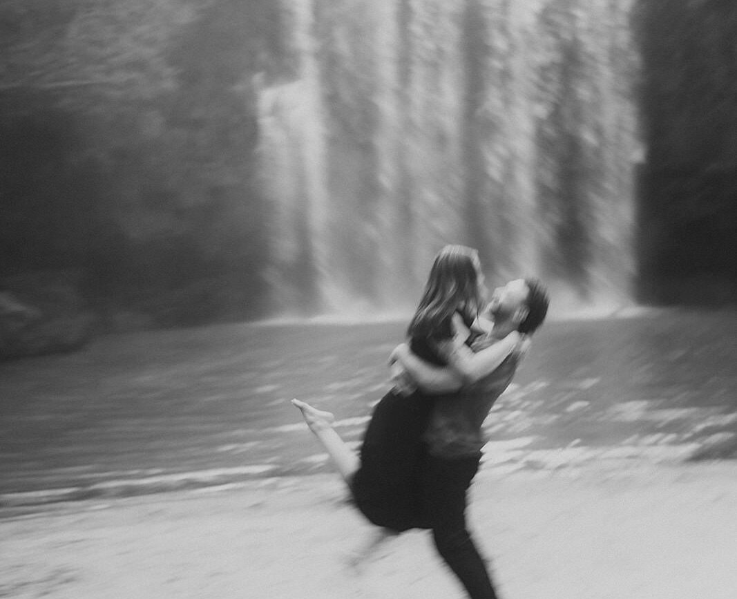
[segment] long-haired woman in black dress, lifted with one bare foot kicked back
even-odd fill
[[[408,327],[413,353],[436,365],[450,365],[464,378],[495,370],[517,348],[519,333],[511,332],[470,358],[455,351],[458,343],[467,342],[464,337],[485,297],[478,253],[463,245],[443,248]],[[461,326],[454,324],[458,320]],[[457,329],[464,332],[456,334]],[[374,408],[360,455],[332,428],[332,414],[297,399],[293,404],[332,458],[357,508],[382,529],[372,544],[403,530],[427,528],[417,513],[417,466],[424,449],[422,432],[433,406],[430,396],[395,385]]]

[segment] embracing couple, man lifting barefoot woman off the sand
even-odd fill
[[[443,248],[408,344],[391,354],[394,388],[374,408],[360,456],[332,428],[332,414],[293,400],[357,508],[380,527],[374,544],[410,528],[432,530],[438,553],[472,599],[497,597],[465,517],[485,443],[481,425],[548,310],[548,295],[533,279],[511,281],[488,306],[485,300],[478,253]]]

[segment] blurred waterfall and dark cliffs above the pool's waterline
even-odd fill
[[[0,354],[411,311],[442,245],[554,308],[733,305],[737,9],[0,0]]]

